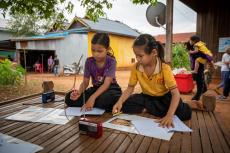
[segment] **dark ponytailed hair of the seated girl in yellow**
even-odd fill
[[[136,40],[133,43],[133,48],[143,46],[144,51],[146,54],[151,54],[153,49],[157,50],[157,55],[160,58],[162,62],[164,61],[164,47],[159,41],[156,41],[156,39],[149,35],[149,34],[141,34],[136,38]]]

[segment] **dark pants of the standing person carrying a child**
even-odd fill
[[[200,100],[201,95],[207,91],[207,86],[204,81],[204,64],[199,64],[198,73],[193,74],[193,80],[196,81],[196,94],[192,100]]]

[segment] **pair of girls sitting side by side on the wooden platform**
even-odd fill
[[[86,61],[84,80],[79,90],[67,94],[68,106],[82,106],[87,110],[95,106],[112,110],[113,113],[141,113],[146,109],[161,117],[160,125],[167,127],[173,126],[174,114],[181,120],[191,118],[191,108],[182,102],[171,68],[164,63],[164,49],[151,35],[140,35],[133,44],[137,63],[132,68],[128,88],[122,95],[115,79],[116,61],[108,55],[109,50],[108,35],[94,35],[93,57]],[[90,77],[93,87],[86,89]],[[137,82],[141,85],[142,93],[131,95]]]

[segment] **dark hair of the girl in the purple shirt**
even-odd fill
[[[99,44],[99,45],[104,46],[107,49],[107,55],[115,58],[114,54],[113,54],[113,50],[110,47],[110,39],[109,39],[109,35],[107,33],[96,33],[93,36],[91,43],[94,45]]]

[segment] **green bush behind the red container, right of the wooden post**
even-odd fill
[[[185,45],[182,43],[178,43],[178,44],[173,45],[172,67],[173,68],[184,67],[187,70],[191,70],[189,53],[188,53]]]

